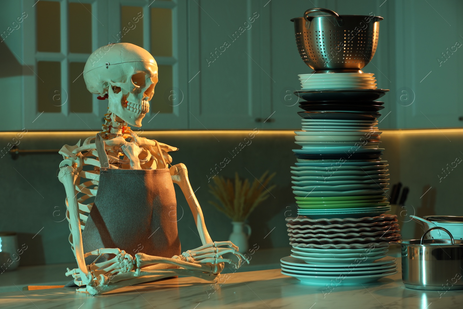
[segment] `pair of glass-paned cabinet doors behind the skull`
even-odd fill
[[[143,129],[188,126],[186,77],[181,77],[186,50],[177,48],[184,20],[179,15],[185,12],[177,1],[24,0],[23,5],[31,12],[24,27],[23,59],[31,69],[24,75],[25,127],[100,130],[107,100],[88,92],[82,73],[92,51],[108,43],[137,44],[156,59],[159,82]]]

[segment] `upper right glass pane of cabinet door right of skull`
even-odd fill
[[[172,57],[172,10],[151,8],[151,55]]]

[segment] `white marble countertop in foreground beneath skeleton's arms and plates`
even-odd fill
[[[18,291],[0,294],[0,308],[269,308],[269,309],[433,309],[462,308],[463,292],[406,289],[399,273],[372,284],[306,285],[284,276],[279,269],[223,275],[216,288],[194,277],[140,284],[91,296],[75,289]]]

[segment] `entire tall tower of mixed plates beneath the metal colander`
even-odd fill
[[[306,100],[291,167],[298,216],[286,218],[292,254],[282,273],[308,284],[363,284],[397,272],[388,246],[400,240],[397,216],[384,214],[389,185],[381,159],[373,74],[300,75]],[[328,90],[326,90],[328,89]],[[331,89],[331,90],[330,90]]]

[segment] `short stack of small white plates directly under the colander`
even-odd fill
[[[302,90],[376,89],[373,73],[300,74]]]

